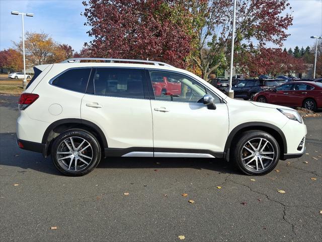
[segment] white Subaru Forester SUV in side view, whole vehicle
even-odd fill
[[[294,109],[231,99],[165,63],[73,58],[34,70],[19,99],[17,143],[51,155],[66,175],[115,156],[223,158],[263,175],[305,150]]]

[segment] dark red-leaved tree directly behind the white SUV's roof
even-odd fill
[[[172,2],[172,1],[169,1]],[[86,25],[94,40],[86,43],[95,57],[150,59],[185,67],[191,36],[165,1],[90,0],[83,2]]]

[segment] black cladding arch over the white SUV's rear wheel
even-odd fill
[[[80,118],[64,118],[56,120],[47,127],[41,142],[42,144],[45,144],[45,149],[43,151],[44,157],[49,155],[48,152],[52,141],[62,132],[70,129],[82,129],[91,132],[96,136],[103,150],[108,147],[106,136],[96,124]]]

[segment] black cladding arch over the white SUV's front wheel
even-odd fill
[[[287,142],[284,133],[281,129],[276,127],[275,125],[264,123],[264,122],[248,122],[241,125],[236,126],[228,135],[226,144],[225,144],[225,159],[229,161],[229,153],[230,147],[233,144],[235,138],[237,138],[241,133],[249,130],[261,130],[272,135],[280,149],[281,149],[281,157],[283,159],[284,154],[287,153]]]

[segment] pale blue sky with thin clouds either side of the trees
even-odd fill
[[[294,20],[287,30],[291,36],[283,47],[312,45],[310,36],[322,35],[322,0],[289,0],[289,3]],[[86,33],[89,27],[84,26],[86,18],[81,16],[82,0],[0,0],[1,50],[12,47],[12,41],[19,41],[21,36],[21,16],[11,15],[11,11],[34,13],[34,17],[25,18],[25,31],[42,30],[76,51],[91,40]]]

